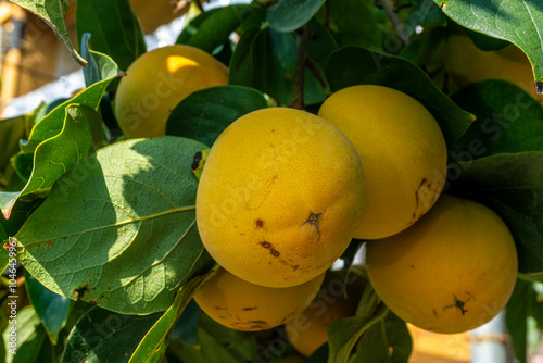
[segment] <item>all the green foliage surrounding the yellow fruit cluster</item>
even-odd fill
[[[167,136],[127,141],[115,138],[119,130],[104,110],[122,71],[147,51],[130,2],[78,0],[79,51],[67,36],[66,1],[13,2],[53,28],[86,66],[87,87],[50,111],[42,104],[0,120],[0,265],[13,262],[10,246],[21,263],[16,273],[14,264],[11,275],[5,270],[0,287],[7,362],[273,362],[292,353],[280,327],[235,331],[191,301],[215,272],[195,228],[191,164],[248,112],[274,104],[316,113],[332,91],[357,84],[402,90],[435,116],[449,147],[445,191],[485,203],[514,234],[520,278],[507,324],[519,362],[528,360],[527,346],[536,349],[543,107],[504,80],[451,92],[443,45],[458,29],[481,48],[510,41],[542,88],[540,2],[253,0],[202,10],[177,43],[228,65],[229,85],[179,102]],[[359,243],[353,240],[346,264]],[[20,297],[16,355],[11,289]],[[359,306],[356,316],[330,324],[329,345],[306,362],[407,361],[405,323],[370,286]]]

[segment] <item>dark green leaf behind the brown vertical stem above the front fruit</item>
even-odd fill
[[[296,42],[294,35],[269,27],[249,26],[242,34],[230,62],[228,84],[255,88],[280,105],[293,97]],[[326,95],[315,75],[305,70],[304,104],[324,101]]]

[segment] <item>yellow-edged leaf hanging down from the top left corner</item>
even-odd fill
[[[85,61],[81,55],[77,53],[77,50],[70,40],[63,16],[65,8],[63,7],[61,0],[11,0],[11,2],[23,7],[41,17],[47,25],[53,29],[56,37],[59,37],[59,39],[61,39],[62,42],[64,42],[64,45],[68,48],[72,58],[81,66],[87,66],[87,61]]]

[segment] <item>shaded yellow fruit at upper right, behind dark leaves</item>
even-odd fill
[[[484,51],[477,48],[467,35],[453,34],[445,41],[445,67],[456,88],[483,79],[505,79],[543,102],[543,95],[535,91],[530,61],[514,45]]]

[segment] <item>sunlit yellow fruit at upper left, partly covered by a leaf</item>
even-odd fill
[[[175,45],[141,54],[115,95],[115,116],[126,138],[166,135],[172,110],[193,91],[228,84],[228,68],[201,49]]]

